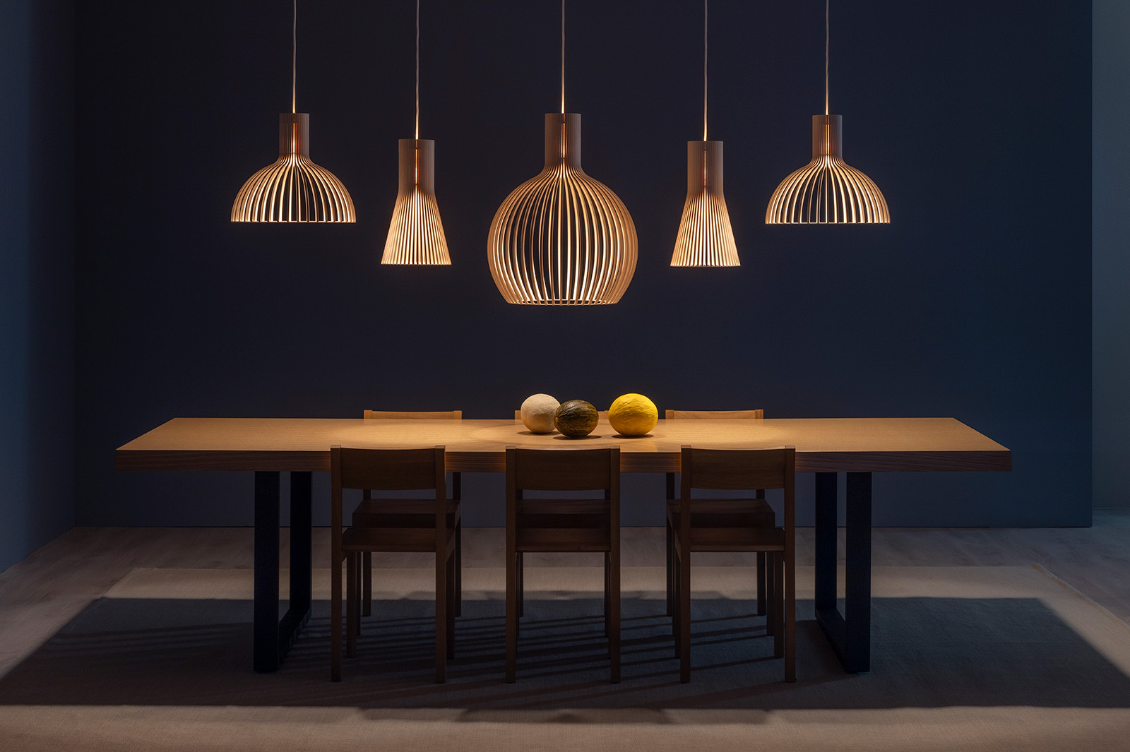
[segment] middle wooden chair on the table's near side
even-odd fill
[[[602,491],[603,498],[528,499],[524,491]],[[522,614],[522,554],[605,554],[605,635],[620,681],[620,448],[506,447],[506,681],[514,682]]]

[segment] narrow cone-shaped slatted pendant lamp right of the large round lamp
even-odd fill
[[[703,140],[687,141],[687,202],[672,266],[740,266],[722,195],[722,142],[706,140],[706,3],[703,0]]]

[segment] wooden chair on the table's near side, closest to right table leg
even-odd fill
[[[679,679],[690,681],[690,553],[693,551],[764,551],[768,554],[770,621],[773,653],[784,656],[784,679],[797,680],[796,647],[796,449],[696,449],[683,447],[679,498],[668,501],[667,518],[675,539],[676,650]],[[757,518],[763,499],[729,499],[731,509],[715,513],[714,499],[695,499],[692,489],[784,489],[784,524],[766,527]],[[705,504],[703,504],[705,502]],[[742,504],[753,513],[742,508]],[[699,524],[698,507],[712,511]]]

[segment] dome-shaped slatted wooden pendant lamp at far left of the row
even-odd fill
[[[279,115],[279,158],[247,178],[232,204],[233,222],[355,222],[349,191],[310,160],[310,114],[297,112],[298,0],[294,0],[290,112]]]

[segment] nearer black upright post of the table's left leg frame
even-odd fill
[[[255,606],[252,665],[279,667],[279,474],[255,471]]]

